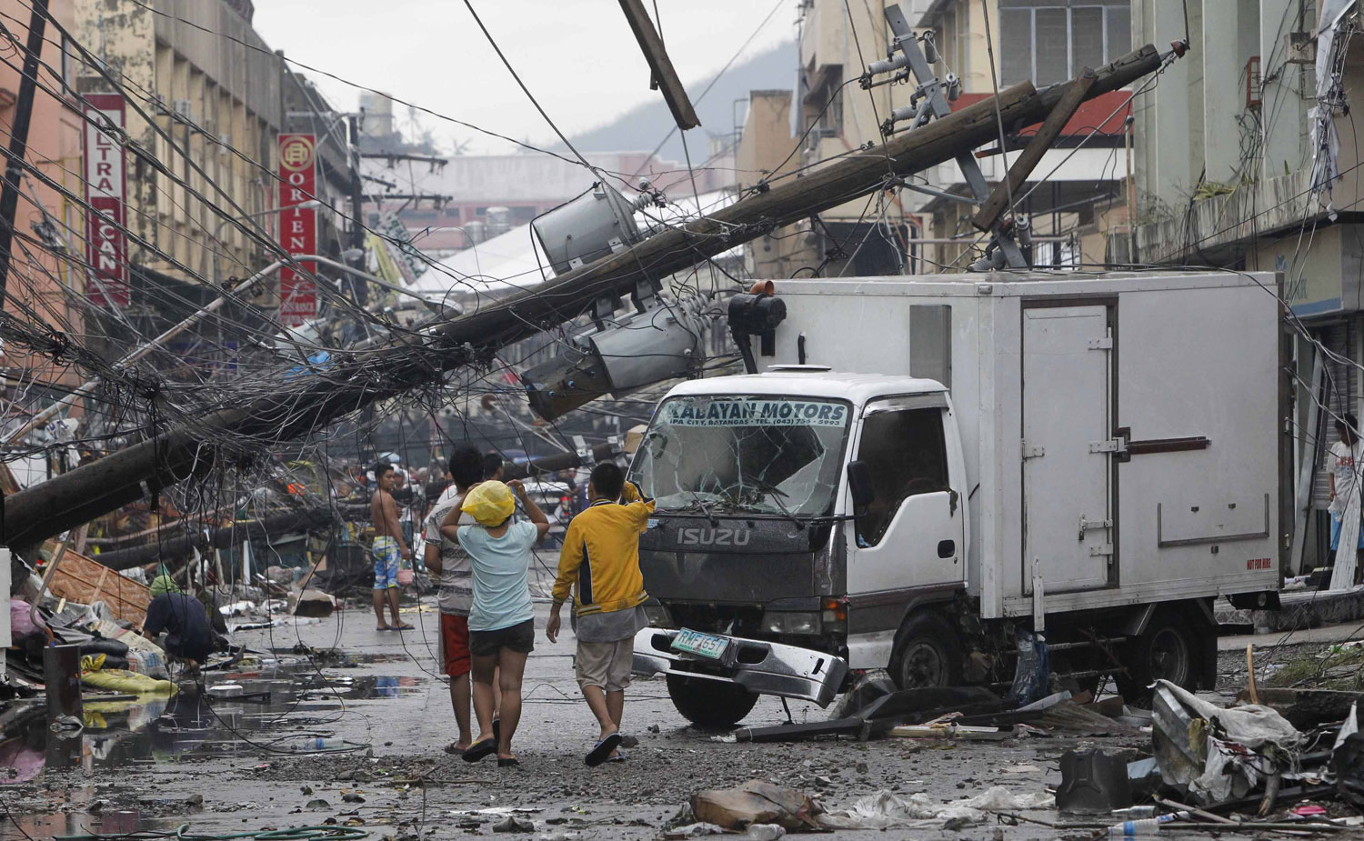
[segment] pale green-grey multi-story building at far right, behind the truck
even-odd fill
[[[1135,104],[1136,258],[1282,274],[1297,487],[1311,487],[1294,567],[1327,556],[1331,421],[1364,414],[1364,180],[1349,108],[1364,90],[1360,18],[1349,3],[1316,5],[1189,0],[1185,23],[1177,4],[1132,1],[1139,40],[1191,45]]]

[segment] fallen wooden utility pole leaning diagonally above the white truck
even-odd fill
[[[1128,53],[1095,72],[1086,98],[1131,85],[1159,68],[1161,61],[1151,45]],[[194,429],[170,429],[12,495],[5,500],[7,533],[0,534],[0,541],[22,552],[195,472],[209,470],[213,453],[203,443],[213,432],[239,442],[288,440],[375,401],[435,382],[447,371],[488,358],[498,348],[563,323],[602,297],[630,294],[647,277],[682,271],[775,228],[881,189],[895,176],[944,164],[963,150],[996,140],[1001,121],[1005,131],[1031,125],[1045,119],[1072,85],[1053,85],[1042,93],[1028,82],[1016,85],[997,100],[982,100],[898,135],[883,147],[787,179],[494,307],[438,320],[420,339],[408,337],[338,353],[325,376],[299,378],[252,405],[205,417]]]

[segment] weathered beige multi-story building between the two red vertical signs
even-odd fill
[[[256,245],[192,194],[271,234],[284,60],[251,27],[250,0],[75,3],[76,35],[121,87],[82,67],[82,93],[121,94],[124,129],[169,169],[127,162],[128,228],[147,243],[130,241],[130,263],[181,281],[209,274],[213,252],[221,273],[259,267]]]

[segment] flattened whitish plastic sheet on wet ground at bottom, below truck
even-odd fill
[[[874,795],[859,797],[848,808],[822,814],[818,821],[824,829],[928,829],[941,826],[944,821],[951,819],[985,823],[992,811],[1054,806],[1056,797],[1046,792],[1016,795],[1003,785],[996,785],[975,797],[951,803],[938,803],[923,793],[900,797],[881,789]]]

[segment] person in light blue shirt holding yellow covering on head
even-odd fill
[[[521,500],[529,522],[513,522],[516,499]],[[460,511],[477,525],[456,526]],[[535,647],[531,549],[548,530],[550,521],[544,511],[514,478],[507,484],[484,481],[475,485],[460,508],[451,508],[441,525],[441,533],[469,553],[473,568],[469,654],[473,658],[473,713],[479,718],[479,737],[464,751],[466,762],[477,762],[496,751],[498,766],[517,765],[512,736],[521,718],[525,658]],[[502,701],[498,728],[492,727],[494,669],[499,669]]]

